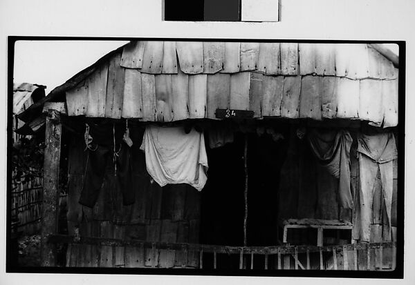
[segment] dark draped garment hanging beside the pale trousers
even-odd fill
[[[308,130],[308,141],[319,163],[339,179],[338,199],[343,208],[353,208],[350,187],[350,147],[347,130]]]

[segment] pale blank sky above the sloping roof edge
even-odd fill
[[[46,95],[128,41],[17,41],[13,82],[46,85]]]

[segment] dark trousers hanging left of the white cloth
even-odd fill
[[[124,124],[87,121],[85,132],[86,169],[79,203],[92,208],[97,202],[109,161],[113,163],[114,175],[122,192],[124,205],[133,204],[133,170],[131,149],[122,141]]]

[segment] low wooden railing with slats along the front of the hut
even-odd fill
[[[239,269],[298,269],[298,270],[354,270],[390,271],[396,266],[396,243],[344,244],[341,246],[219,246],[208,244],[178,244],[167,242],[145,242],[140,240],[107,239],[99,237],[80,237],[75,242],[73,236],[52,235],[51,243],[89,245],[96,248],[140,248],[147,250],[149,256],[160,256],[163,250],[179,253],[185,258],[179,267],[187,266],[187,254],[199,255],[198,268],[220,269],[219,259],[227,258],[236,262]],[[99,251],[99,250],[98,250]],[[122,250],[122,253],[126,250]],[[115,255],[115,254],[114,254]],[[194,255],[192,255],[194,258]],[[231,258],[232,257],[232,258]],[[235,258],[236,257],[236,258]],[[239,257],[239,258],[238,258]],[[121,259],[123,257],[120,257]],[[189,257],[190,258],[190,257]],[[196,257],[197,258],[197,257]],[[100,258],[98,258],[99,260]],[[101,259],[102,260],[102,259]],[[124,259],[125,260],[125,259]],[[156,259],[153,259],[156,260]],[[160,262],[160,264],[163,264]],[[163,267],[158,261],[149,267]],[[119,267],[131,267],[128,264]],[[70,266],[70,264],[67,264]],[[95,264],[98,267],[111,264]]]

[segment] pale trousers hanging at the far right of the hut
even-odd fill
[[[387,223],[383,225],[382,239],[391,240],[391,205],[394,181],[394,159],[398,157],[393,132],[367,131],[358,135],[360,189],[356,197],[353,239],[369,242],[372,206],[376,179],[380,175],[382,197]]]

